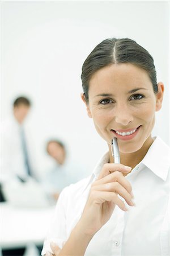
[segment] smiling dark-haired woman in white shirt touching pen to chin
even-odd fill
[[[151,55],[128,38],[104,40],[84,61],[82,84],[109,152],[90,177],[63,189],[42,255],[169,255],[169,147],[151,136],[164,85]]]

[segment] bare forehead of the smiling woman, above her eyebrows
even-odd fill
[[[111,64],[99,69],[91,77],[89,93],[105,92],[106,89],[130,90],[135,87],[152,89],[148,73],[133,64]]]

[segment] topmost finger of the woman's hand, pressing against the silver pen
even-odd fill
[[[104,164],[97,180],[99,180],[115,171],[120,171],[124,174],[128,174],[131,171],[131,167],[124,166],[124,164],[115,164],[115,163]]]

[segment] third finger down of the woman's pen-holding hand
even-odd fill
[[[130,193],[128,193],[128,191],[124,187],[122,187],[122,185],[120,183],[118,183],[117,181],[112,182],[112,183],[96,185],[96,186],[92,187],[92,190],[101,191],[101,192],[108,191],[108,192],[117,193],[118,195],[120,195],[121,197],[123,197],[125,199],[127,204],[129,204],[130,206],[135,205],[133,200],[131,200]]]

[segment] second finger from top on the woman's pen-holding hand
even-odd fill
[[[96,180],[94,183],[92,183],[91,187],[94,187],[95,185],[111,183],[114,181],[120,183],[122,187],[124,187],[131,194],[132,188],[130,182],[119,171],[115,171],[112,174],[103,177],[103,179]],[[131,194],[131,196],[133,195]]]

